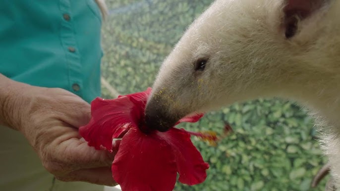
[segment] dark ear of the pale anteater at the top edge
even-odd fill
[[[300,21],[313,15],[326,4],[329,0],[284,0],[284,27],[285,37],[291,38],[298,31]]]

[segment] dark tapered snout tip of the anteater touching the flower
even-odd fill
[[[154,101],[149,101],[145,108],[145,124],[150,129],[166,132],[176,123],[176,120],[168,114],[164,108]]]

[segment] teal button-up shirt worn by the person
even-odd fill
[[[1,0],[0,73],[100,96],[101,13],[94,0]]]

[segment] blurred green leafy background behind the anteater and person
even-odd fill
[[[151,87],[162,61],[188,25],[212,0],[107,0],[103,26],[103,97]],[[187,130],[234,132],[217,146],[192,138],[210,164],[206,181],[176,184],[176,191],[322,191],[310,183],[326,158],[319,149],[313,119],[280,99],[236,103],[208,113]],[[326,177],[328,179],[328,177]]]

